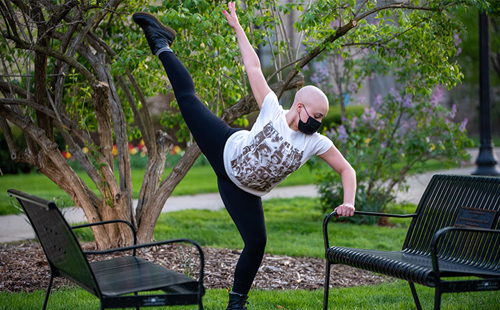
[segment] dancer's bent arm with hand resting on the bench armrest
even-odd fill
[[[326,161],[342,177],[344,203],[335,208],[335,211],[338,215],[352,216],[354,214],[354,200],[356,199],[356,171],[335,146],[319,155],[319,158]]]

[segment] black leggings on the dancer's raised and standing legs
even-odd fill
[[[267,234],[262,199],[238,188],[224,168],[224,145],[239,129],[229,127],[199,101],[191,75],[174,53],[164,51],[158,58],[165,67],[185,123],[217,174],[224,206],[242,236],[244,248],[236,265],[233,291],[247,295],[264,256]]]

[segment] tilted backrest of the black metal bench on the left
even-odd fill
[[[99,297],[100,291],[94,273],[56,204],[18,190],[8,190],[8,193],[16,197],[35,229],[51,270],[63,273]]]

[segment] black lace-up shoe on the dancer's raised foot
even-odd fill
[[[144,31],[153,55],[156,56],[159,49],[170,47],[174,42],[176,36],[174,29],[165,26],[153,15],[146,12],[136,12],[133,13],[132,18]]]

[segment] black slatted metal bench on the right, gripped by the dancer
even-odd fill
[[[328,309],[330,267],[335,263],[408,281],[417,309],[422,307],[415,283],[435,288],[434,309],[440,309],[442,293],[499,290],[499,211],[500,178],[436,174],[414,214],[355,212],[412,218],[401,251],[331,247],[328,222],[337,213],[329,213],[323,223],[323,309]]]

